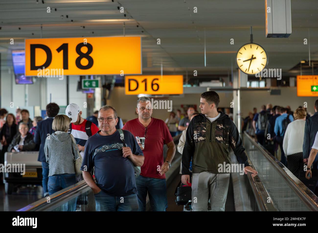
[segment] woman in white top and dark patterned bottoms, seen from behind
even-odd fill
[[[294,112],[294,121],[287,126],[283,140],[283,150],[287,156],[287,168],[297,178],[303,169],[302,144],[304,142],[306,112],[298,108]]]

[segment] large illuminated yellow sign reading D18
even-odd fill
[[[141,37],[25,40],[25,75],[63,69],[64,75],[142,74]]]

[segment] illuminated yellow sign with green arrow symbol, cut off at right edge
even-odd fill
[[[318,96],[317,85],[317,75],[297,75],[297,96]]]

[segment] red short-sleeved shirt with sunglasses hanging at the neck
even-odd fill
[[[159,174],[163,164],[163,145],[168,144],[173,139],[164,121],[151,117],[150,124],[146,129],[139,119],[136,118],[129,120],[122,129],[128,130],[135,137],[144,137],[146,131],[145,149],[142,151],[145,160],[141,167],[141,175],[144,177],[165,179],[165,174],[162,176]],[[158,166],[160,166],[160,169]]]

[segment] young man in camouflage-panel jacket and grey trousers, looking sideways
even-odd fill
[[[228,115],[217,111],[218,94],[215,91],[204,92],[200,102],[201,114],[194,116],[186,132],[181,181],[183,184],[190,183],[189,167],[193,158],[192,211],[207,211],[209,199],[212,211],[225,211],[230,172],[225,170],[224,165],[231,164],[229,145],[239,164],[245,166],[245,174],[257,172],[247,162],[237,127]]]

